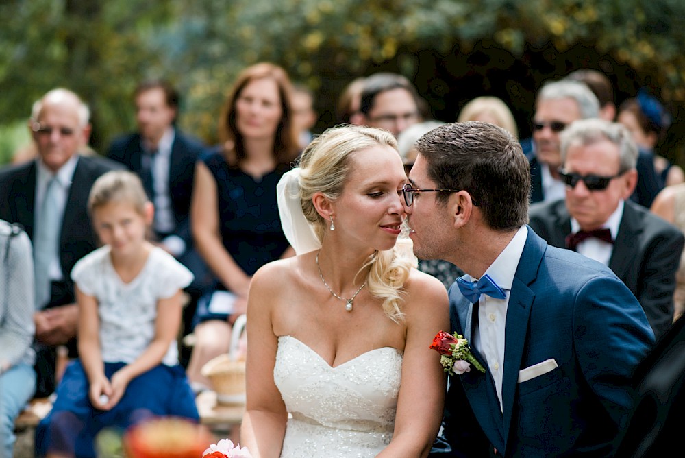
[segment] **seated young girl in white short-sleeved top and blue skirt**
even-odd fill
[[[95,458],[95,436],[107,427],[158,415],[199,419],[176,343],[192,274],[146,240],[154,207],[134,173],[101,176],[88,210],[104,245],[71,272],[79,359],[36,429],[37,455],[48,458]]]

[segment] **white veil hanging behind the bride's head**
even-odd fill
[[[276,195],[278,213],[286,239],[295,249],[295,253],[303,254],[319,250],[321,242],[314,233],[314,227],[302,213],[299,176],[299,167],[284,173],[276,186]]]

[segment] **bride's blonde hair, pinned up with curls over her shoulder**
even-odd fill
[[[302,153],[299,160],[300,202],[319,241],[323,241],[328,221],[316,211],[312,197],[315,193],[322,193],[329,200],[337,200],[343,193],[353,154],[378,145],[397,149],[397,141],[390,132],[346,125],[326,130]],[[390,319],[395,322],[403,320],[403,287],[412,267],[416,267],[411,239],[403,234],[392,249],[376,251],[369,256],[360,272],[366,267],[369,267],[366,276],[369,292],[383,300],[383,310]]]

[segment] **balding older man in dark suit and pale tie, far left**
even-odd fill
[[[71,269],[97,247],[88,217],[88,193],[103,173],[119,167],[81,156],[88,145],[88,107],[66,89],[49,91],[29,122],[36,160],[0,170],[0,219],[21,224],[34,244],[36,278],[36,396],[55,384],[55,347],[75,350],[77,306]]]

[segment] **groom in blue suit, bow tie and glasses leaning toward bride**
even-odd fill
[[[508,132],[453,123],[416,149],[414,252],[466,272],[449,291],[451,331],[486,368],[450,377],[431,456],[611,455],[654,341],[640,304],[610,269],[526,225],[530,169]]]

